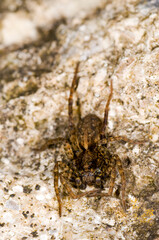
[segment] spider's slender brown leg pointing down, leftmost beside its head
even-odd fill
[[[58,162],[55,163],[53,172],[54,172],[54,188],[55,188],[55,193],[56,193],[57,201],[58,201],[58,204],[59,204],[59,216],[61,217],[61,213],[62,213],[62,202],[61,202],[60,192],[59,192],[59,188],[58,188],[58,180],[59,180]]]

